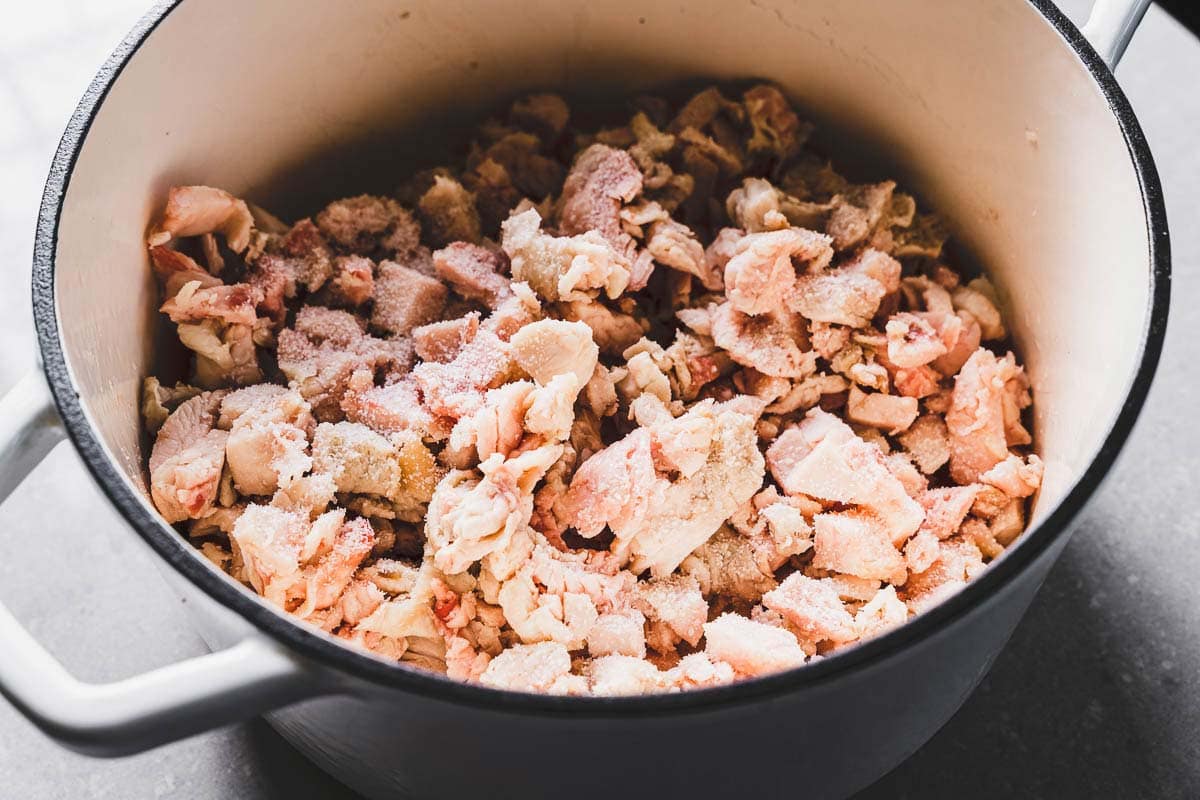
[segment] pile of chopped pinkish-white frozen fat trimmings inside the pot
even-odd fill
[[[984,570],[1042,480],[986,278],[772,86],[634,107],[522,98],[290,225],[173,188],[163,517],[311,625],[534,692],[796,667]]]

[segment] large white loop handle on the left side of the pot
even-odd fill
[[[32,372],[0,399],[0,503],[62,439],[46,381]],[[85,684],[0,606],[0,693],[52,739],[90,756],[137,753],[329,691],[259,634],[125,680]]]

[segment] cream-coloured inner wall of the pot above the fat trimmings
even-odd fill
[[[860,176],[916,191],[997,283],[1033,383],[1046,462],[1036,516],[1048,513],[1124,403],[1148,242],[1104,96],[1037,11],[1012,0],[358,0],[302,12],[288,0],[187,0],[113,84],[62,207],[59,321],[98,438],[144,494],[137,407],[157,289],[143,242],[169,186],[312,211],[386,190],[380,160],[422,161],[395,144],[410,139],[348,146],[371,132],[448,113],[478,120],[529,89],[632,95],[750,77],[797,101],[840,163],[875,154]]]

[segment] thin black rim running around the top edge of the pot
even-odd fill
[[[1058,506],[1024,534],[1018,547],[950,599],[881,637],[792,670],[674,694],[560,697],[502,691],[452,681],[443,675],[403,667],[397,662],[349,648],[317,628],[287,618],[245,588],[217,575],[202,563],[199,553],[185,537],[149,511],[143,499],[127,485],[121,471],[109,459],[104,446],[88,422],[66,363],[55,309],[54,261],[59,221],[70,188],[71,174],[108,90],[120,78],[125,66],[146,38],[182,1],[163,0],[138,22],[92,79],[59,143],[42,196],[34,247],[34,319],[43,368],[76,450],[79,451],[109,501],[120,510],[155,553],[212,600],[238,613],[277,642],[313,663],[332,669],[336,674],[344,673],[379,687],[404,690],[432,699],[478,708],[550,715],[623,717],[704,710],[715,705],[764,699],[827,682],[854,669],[883,661],[901,649],[934,636],[950,622],[977,610],[988,599],[1020,576],[1068,530],[1070,522],[1112,467],[1146,399],[1166,331],[1171,283],[1166,211],[1154,161],[1128,100],[1092,46],[1051,0],[1026,0],[1082,61],[1104,94],[1124,136],[1141,188],[1151,269],[1147,275],[1150,308],[1146,325],[1141,331],[1140,360],[1128,384],[1126,403],[1112,421],[1087,469]]]

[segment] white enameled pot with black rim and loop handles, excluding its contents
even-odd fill
[[[0,691],[64,745],[102,756],[269,712],[322,768],[377,798],[865,786],[982,678],[1150,385],[1168,306],[1165,215],[1106,66],[1146,5],[1100,0],[1092,43],[1048,0],[160,6],[101,70],[54,161],[34,263],[46,375],[0,404],[0,499],[65,432],[215,652],[84,685],[0,609]],[[419,161],[421,143],[521,91],[751,77],[778,83],[842,161],[866,160],[944,212],[1006,300],[1045,483],[1030,531],[967,589],[788,673],[674,696],[542,697],[344,648],[160,519],[137,409],[157,299],[144,233],[168,186],[311,211],[386,188],[380,164]],[[386,136],[396,131],[425,133]]]

